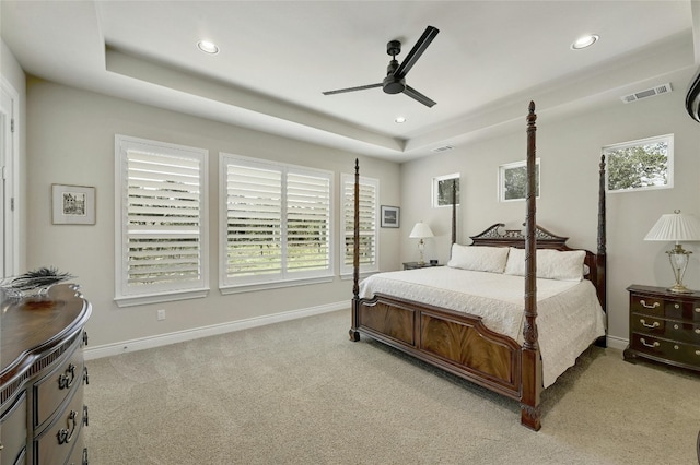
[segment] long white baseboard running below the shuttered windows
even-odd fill
[[[233,331],[247,330],[250,327],[264,326],[266,324],[280,323],[283,321],[296,320],[300,318],[312,317],[315,314],[328,313],[331,311],[349,308],[349,302],[342,301],[328,303],[325,306],[310,307],[301,310],[291,310],[281,313],[256,317],[247,320],[213,324],[210,326],[192,327],[191,330],[176,331],[174,333],[159,334],[156,336],[124,341],[114,344],[105,344],[96,347],[85,347],[84,358],[85,360],[94,360],[96,358],[110,357],[114,355],[125,354],[127,351],[161,347],[170,344],[182,343],[185,341],[198,339],[200,337],[215,336],[218,334],[231,333]]]

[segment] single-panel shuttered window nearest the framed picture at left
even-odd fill
[[[205,297],[208,152],[116,135],[115,155],[117,303]]]

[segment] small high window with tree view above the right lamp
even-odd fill
[[[674,187],[673,134],[608,145],[603,154],[608,192]]]

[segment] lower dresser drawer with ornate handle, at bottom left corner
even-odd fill
[[[79,383],[75,394],[63,412],[60,413],[37,438],[34,439],[34,461],[40,464],[63,464],[72,451],[73,444],[82,443],[82,426],[85,407],[83,386]]]

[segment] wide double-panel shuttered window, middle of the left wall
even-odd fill
[[[332,172],[221,154],[220,176],[222,293],[332,278]]]

